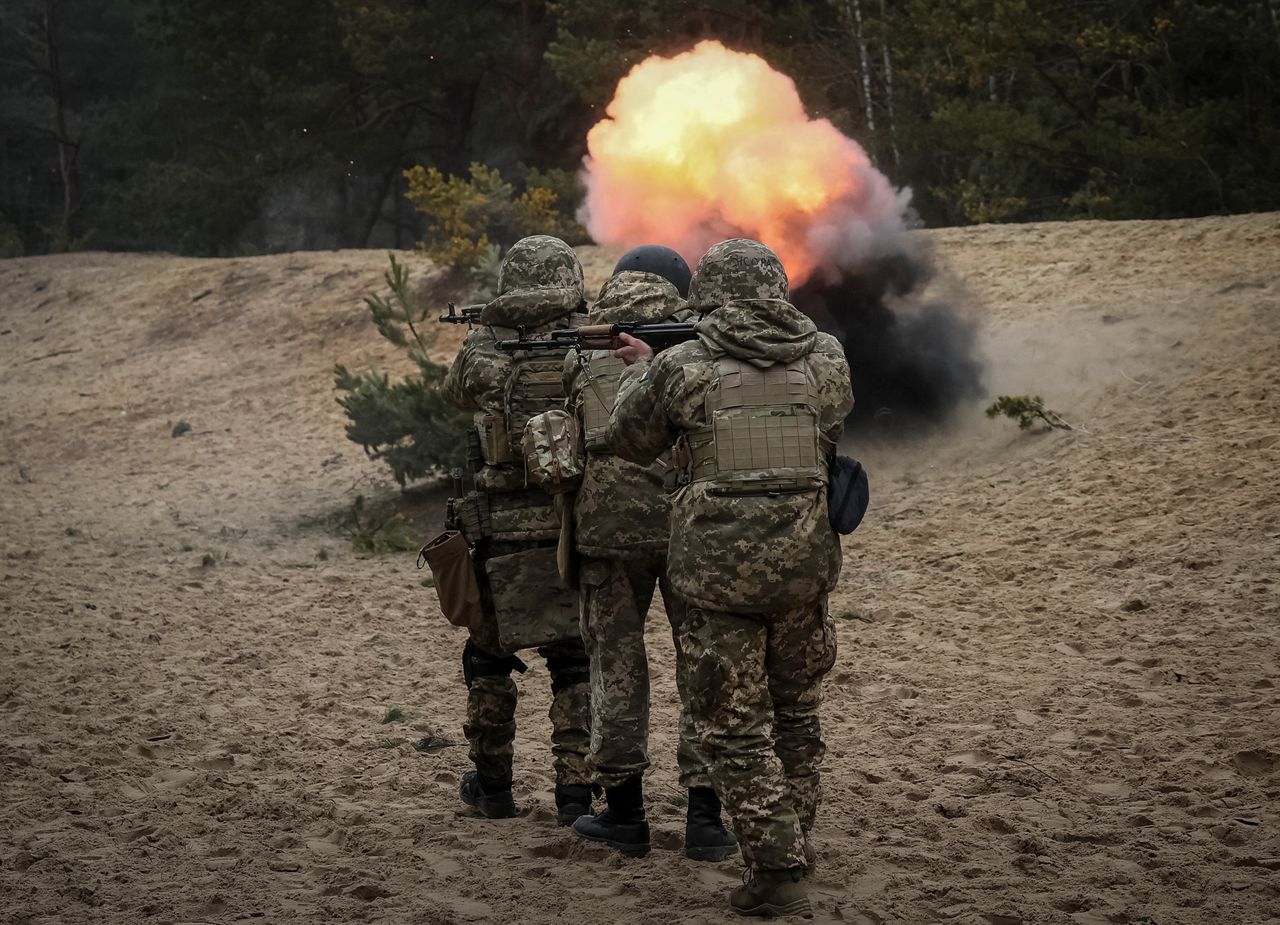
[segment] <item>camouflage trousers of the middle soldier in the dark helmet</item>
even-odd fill
[[[680,649],[685,603],[667,583],[667,557],[584,559],[582,640],[591,659],[591,751],[595,783],[617,787],[649,766],[649,659],[644,624],[654,587],[662,592],[676,641],[680,691],[680,786],[710,787],[707,760],[689,713],[687,664]]]

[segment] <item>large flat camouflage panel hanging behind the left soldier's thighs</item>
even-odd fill
[[[484,563],[503,654],[579,638],[577,594],[561,580],[556,546],[539,546]]]

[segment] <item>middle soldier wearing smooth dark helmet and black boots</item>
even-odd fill
[[[689,265],[667,247],[637,247],[618,261],[600,289],[591,324],[684,321],[691,312]],[[678,636],[684,604],[667,582],[669,502],[663,480],[669,454],[636,466],[609,452],[604,439],[623,363],[609,351],[571,353],[564,360],[568,409],[579,420],[586,468],[573,507],[575,542],[581,562],[582,638],[591,659],[591,751],[595,783],[608,807],[582,816],[575,832],[623,855],[649,851],[641,775],[649,766],[649,663],[644,624],[654,586]],[[707,761],[692,729],[685,660],[676,649],[676,686],[681,696],[680,783],[689,791],[685,853],[718,861],[737,851],[721,823],[721,805],[707,774]]]

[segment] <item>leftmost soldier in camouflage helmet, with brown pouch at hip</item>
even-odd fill
[[[563,589],[556,573],[559,517],[549,495],[527,487],[520,450],[525,421],[563,404],[563,357],[511,356],[495,343],[580,324],[585,317],[580,313],[585,307],[582,266],[558,238],[524,238],[503,258],[498,293],[481,311],[481,326],[467,335],[442,386],[447,400],[476,412],[471,445],[483,461],[476,491],[467,496],[460,518],[474,548],[484,612],[462,652],[463,734],[475,770],[463,775],[461,795],[462,802],[486,818],[516,814],[511,764],[517,691],[511,672],[524,672],[525,664],[513,652],[522,640],[507,638],[503,624],[518,624],[526,638],[543,642],[538,654],[547,660],[552,679],[557,816],[562,825],[571,825],[591,811],[589,663],[576,622],[576,595]]]

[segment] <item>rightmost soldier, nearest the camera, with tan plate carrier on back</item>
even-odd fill
[[[616,353],[636,365],[608,439],[636,463],[673,443],[682,461],[667,574],[689,606],[690,711],[749,865],[730,906],[809,916],[818,704],[836,658],[826,604],[841,564],[827,467],[854,398],[840,343],[786,298],[763,244],[708,251],[690,287],[705,312],[698,340],[653,357],[623,336]]]

